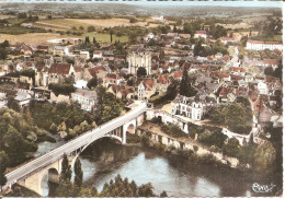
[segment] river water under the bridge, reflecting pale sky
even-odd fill
[[[43,142],[39,150],[50,151],[58,143]],[[36,153],[38,154],[38,153]],[[255,183],[244,173],[230,168],[205,165],[183,166],[183,160],[170,160],[157,151],[139,147],[121,145],[104,139],[89,147],[80,161],[86,185],[102,191],[103,185],[117,174],[142,185],[151,183],[153,191],[163,190],[171,197],[250,197],[256,196],[250,185]],[[72,174],[73,177],[73,174]],[[47,176],[43,183],[48,196]]]

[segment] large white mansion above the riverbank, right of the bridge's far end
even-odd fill
[[[192,97],[178,95],[171,103],[172,114],[182,115],[193,120],[202,120],[209,107],[215,104],[216,99],[207,95],[196,95]]]

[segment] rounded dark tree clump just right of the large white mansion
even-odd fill
[[[233,103],[210,110],[212,122],[223,125],[237,133],[248,134],[252,129],[252,110],[248,98],[238,97]]]

